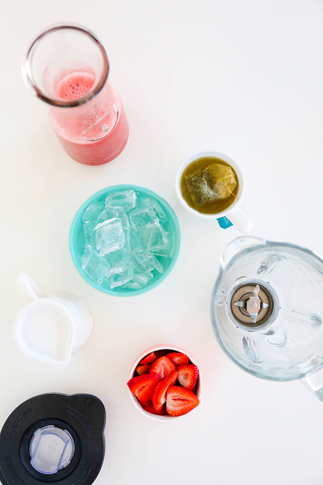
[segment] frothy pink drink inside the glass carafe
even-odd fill
[[[92,73],[74,71],[57,83],[55,94],[72,101],[90,92],[94,83]],[[111,162],[127,144],[128,121],[121,99],[108,81],[89,102],[73,108],[52,106],[48,116],[65,152],[77,162]]]

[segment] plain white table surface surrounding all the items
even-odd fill
[[[130,137],[107,165],[69,159],[22,81],[25,44],[59,21],[87,25],[108,50]],[[0,27],[0,426],[38,394],[92,393],[107,412],[97,485],[322,485],[323,403],[297,381],[247,374],[221,350],[210,296],[240,233],[188,214],[174,177],[195,151],[229,153],[245,172],[250,235],[323,254],[323,3],[18,0],[1,5]],[[122,183],[159,193],[182,232],[169,277],[132,298],[89,286],[68,250],[81,203]],[[13,341],[19,271],[46,294],[80,296],[93,316],[88,345],[65,369],[29,360]],[[139,413],[127,388],[137,355],[162,343],[186,349],[203,377],[200,405],[170,423]]]

